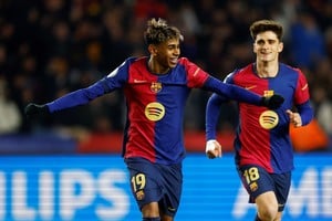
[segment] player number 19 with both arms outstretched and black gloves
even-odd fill
[[[172,221],[181,196],[183,118],[190,90],[199,87],[271,108],[280,106],[283,98],[267,98],[225,84],[179,57],[183,35],[163,19],[147,22],[144,39],[149,56],[128,57],[93,85],[48,104],[29,104],[25,114],[59,112],[122,88],[127,106],[123,157],[133,196],[144,221]]]

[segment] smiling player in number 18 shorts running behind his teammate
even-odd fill
[[[303,73],[279,62],[279,54],[283,49],[282,25],[272,20],[259,20],[251,24],[250,34],[256,62],[234,71],[225,81],[262,96],[280,94],[284,97],[284,103],[274,110],[238,103],[235,161],[242,185],[250,196],[249,202],[256,203],[256,220],[277,221],[281,220],[293,169],[289,124],[295,127],[309,124],[313,110]],[[221,156],[221,146],[216,140],[216,125],[220,104],[227,99],[217,94],[208,99],[206,152],[209,158]]]

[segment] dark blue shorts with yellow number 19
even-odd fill
[[[158,165],[143,158],[129,158],[125,162],[139,209],[158,202],[163,214],[175,217],[183,190],[181,164]]]

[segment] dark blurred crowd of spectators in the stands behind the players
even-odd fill
[[[89,86],[128,56],[146,55],[143,31],[152,17],[178,27],[185,36],[181,55],[221,80],[253,61],[251,22],[280,21],[286,29],[281,61],[307,75],[315,117],[332,135],[329,0],[1,0],[0,134],[122,130],[122,92],[33,122],[23,108]],[[194,91],[186,129],[204,130],[209,95]],[[236,112],[232,103],[222,108],[219,129],[235,128]]]

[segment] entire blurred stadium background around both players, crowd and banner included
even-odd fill
[[[253,61],[252,21],[276,19],[284,25],[281,61],[302,69],[315,110],[310,126],[291,128],[299,164],[286,220],[331,220],[329,0],[1,0],[0,219],[139,220],[120,158],[122,92],[33,122],[23,108],[89,86],[127,56],[146,54],[143,31],[152,17],[180,28],[181,54],[218,78]],[[178,220],[248,220],[253,211],[238,198],[232,166],[238,120],[232,103],[222,108],[218,128],[226,157],[204,156],[209,95],[194,91],[187,104],[187,177]]]

